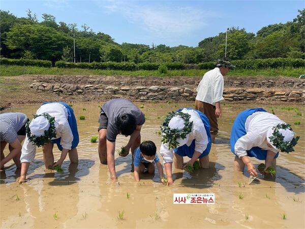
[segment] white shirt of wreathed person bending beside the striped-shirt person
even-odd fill
[[[63,149],[71,150],[73,134],[68,123],[67,108],[60,103],[47,103],[37,110],[36,115],[41,115],[42,113],[48,113],[55,118],[56,137],[52,138],[52,140],[61,137],[60,145],[62,145]],[[29,141],[26,136],[21,150],[20,162],[32,162],[35,155],[36,145]]]

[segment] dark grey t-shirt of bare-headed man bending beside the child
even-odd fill
[[[102,109],[108,118],[107,139],[112,142],[115,141],[116,136],[119,134],[116,122],[121,115],[126,113],[133,115],[138,126],[143,125],[145,122],[142,111],[128,99],[118,98],[109,100],[102,106]]]

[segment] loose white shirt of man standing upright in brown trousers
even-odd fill
[[[206,72],[198,87],[196,100],[215,105],[216,102],[224,100],[224,77],[219,68]]]

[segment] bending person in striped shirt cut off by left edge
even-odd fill
[[[21,167],[21,142],[25,138],[25,124],[28,118],[24,113],[2,113],[0,115],[1,157],[0,169],[13,159],[17,168]],[[4,149],[9,144],[10,153],[5,157]]]

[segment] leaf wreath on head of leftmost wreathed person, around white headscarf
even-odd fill
[[[33,115],[34,119],[39,116],[45,117],[48,122],[50,123],[50,127],[48,130],[44,131],[43,136],[36,136],[33,135],[31,130],[29,129],[30,122],[28,121],[25,125],[26,128],[26,135],[29,141],[33,142],[36,146],[41,147],[46,145],[47,143],[51,142],[53,137],[56,137],[56,130],[55,130],[55,118],[50,116],[48,113],[42,113],[41,115]]]

